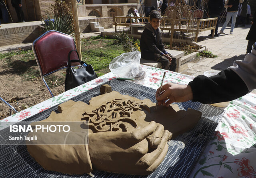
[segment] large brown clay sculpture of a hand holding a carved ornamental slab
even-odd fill
[[[27,144],[28,152],[44,169],[68,174],[94,169],[148,175],[164,160],[167,141],[193,128],[201,118],[201,112],[180,110],[178,105],[159,106],[154,112],[155,104],[150,100],[115,91],[96,96],[89,103],[70,100],[58,106],[60,113],[52,112],[41,121],[87,121],[88,134],[82,124],[69,134],[29,133],[40,141]],[[88,145],[84,141],[87,136]],[[55,145],[44,145],[51,139]]]

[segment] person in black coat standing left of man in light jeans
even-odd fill
[[[208,36],[212,36],[212,33],[214,33],[214,36],[218,35],[218,27],[219,27],[219,21],[220,21],[220,14],[224,8],[224,1],[223,0],[209,0],[208,2],[208,11],[210,18],[218,17],[215,32],[211,30],[211,34]]]

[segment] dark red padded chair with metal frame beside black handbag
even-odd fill
[[[34,40],[32,49],[41,78],[53,97],[52,91],[45,82],[44,77],[68,67],[68,52],[70,50],[76,50],[74,40],[67,34],[50,30]],[[75,52],[71,54],[70,58],[72,60],[78,60]],[[79,64],[78,62],[74,62],[72,66],[78,66]]]

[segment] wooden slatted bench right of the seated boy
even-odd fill
[[[170,48],[172,48],[172,41],[174,32],[190,32],[195,33],[194,41],[198,41],[198,34],[206,30],[214,30],[216,28],[218,18],[205,18],[205,19],[172,19],[163,18],[161,30],[171,31],[170,35]],[[214,38],[214,33],[212,33],[212,38]]]

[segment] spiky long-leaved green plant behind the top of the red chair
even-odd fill
[[[65,34],[71,34],[74,31],[70,16],[63,14],[63,16],[56,16],[55,14],[50,15],[46,12],[47,19],[44,20],[44,32],[49,30],[56,30]]]

